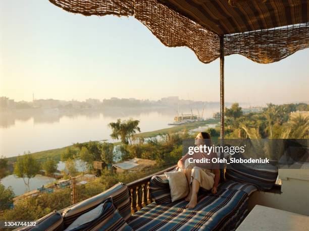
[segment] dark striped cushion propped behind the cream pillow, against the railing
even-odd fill
[[[155,199],[157,204],[172,202],[169,180],[165,175],[153,176],[150,180],[149,191],[151,198]]]

